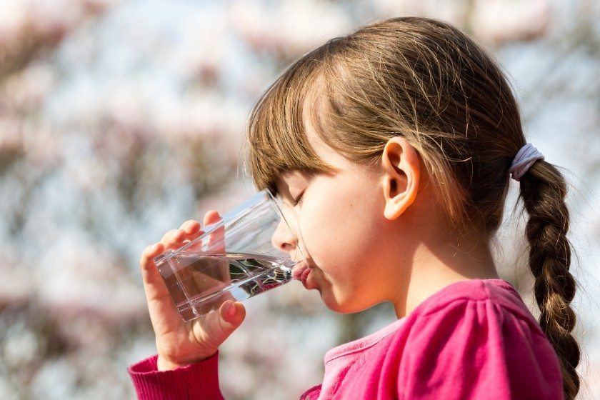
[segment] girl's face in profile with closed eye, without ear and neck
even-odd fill
[[[306,289],[317,289],[329,309],[342,313],[391,300],[398,289],[393,282],[406,276],[389,251],[401,244],[397,226],[384,216],[383,169],[349,161],[307,129],[316,154],[339,171],[289,171],[277,181],[282,209],[310,267]],[[293,237],[276,234],[273,241],[296,254]]]

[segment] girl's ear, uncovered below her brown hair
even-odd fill
[[[416,199],[421,165],[414,147],[399,136],[389,139],[381,155],[384,168],[383,189],[386,199],[384,216],[398,218]]]

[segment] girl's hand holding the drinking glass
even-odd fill
[[[204,216],[204,225],[214,224],[219,219],[221,217],[216,211],[209,211]],[[141,254],[141,276],[150,320],[156,335],[159,371],[208,359],[241,325],[246,316],[246,309],[242,304],[228,300],[221,304],[219,310],[184,322],[171,301],[161,274],[154,264],[154,257],[166,249],[177,249],[199,237],[203,234],[200,228],[198,221],[186,221],[179,229],[164,234],[159,243],[146,247]]]

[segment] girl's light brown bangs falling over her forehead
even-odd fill
[[[304,117],[323,136],[317,91],[327,46],[292,64],[252,109],[247,125],[249,174],[257,189],[277,194],[276,181],[286,171],[310,175],[334,171],[312,149]]]

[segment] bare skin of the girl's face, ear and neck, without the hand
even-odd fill
[[[379,166],[368,168],[306,129],[316,154],[338,171],[281,176],[279,194],[293,209],[287,219],[300,242],[284,235],[274,242],[292,255],[296,246],[308,254],[307,287],[329,309],[351,313],[390,301],[400,318],[449,284],[498,278],[484,236],[451,231],[408,141],[390,139]]]

